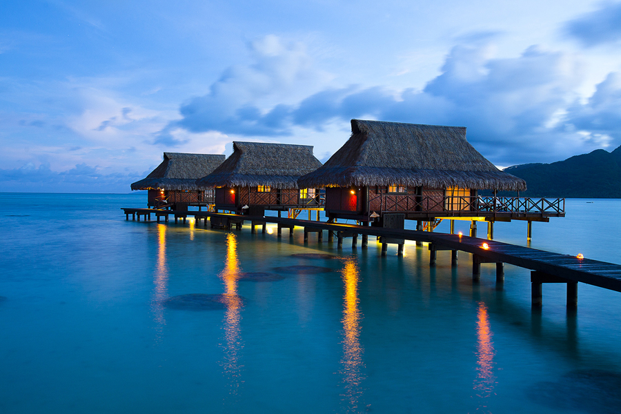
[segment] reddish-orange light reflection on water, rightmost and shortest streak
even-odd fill
[[[474,382],[474,390],[477,397],[486,398],[495,395],[494,384],[496,377],[493,374],[495,365],[492,336],[493,333],[489,326],[489,317],[487,315],[487,307],[483,302],[479,302],[477,310],[477,377]],[[477,408],[478,412],[489,413],[487,406],[482,402]]]

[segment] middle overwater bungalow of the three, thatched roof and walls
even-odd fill
[[[263,215],[317,206],[319,192],[299,189],[297,179],[320,166],[312,146],[233,142],[233,154],[196,182],[204,190],[215,188],[216,210]]]

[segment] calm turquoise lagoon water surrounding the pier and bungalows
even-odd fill
[[[125,221],[145,197],[3,194],[1,413],[619,411],[620,293],[581,284],[568,313],[545,285],[533,312],[528,270],[506,266],[501,288],[492,264],[473,284],[465,253],[429,268],[411,244]],[[621,201],[566,209],[533,247],[621,263]],[[526,224],[495,238],[525,244]],[[189,294],[224,306],[166,302]]]

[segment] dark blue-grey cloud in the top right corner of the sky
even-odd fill
[[[568,21],[564,32],[584,46],[598,46],[621,41],[621,2],[603,3],[599,10]]]

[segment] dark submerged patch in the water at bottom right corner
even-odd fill
[[[618,413],[621,409],[621,373],[571,371],[556,382],[537,382],[526,393],[535,402],[557,409]]]

